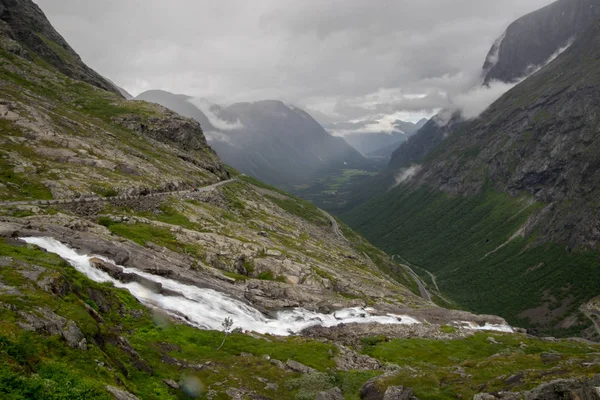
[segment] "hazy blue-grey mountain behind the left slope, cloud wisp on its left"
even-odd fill
[[[196,119],[226,163],[279,187],[310,182],[321,172],[369,165],[344,139],[329,135],[307,112],[280,101],[227,107],[204,104],[201,109],[189,96],[164,91],[145,92],[137,99]]]

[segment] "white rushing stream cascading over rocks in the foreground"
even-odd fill
[[[112,282],[116,287],[129,290],[142,303],[158,307],[177,318],[185,316],[190,324],[202,329],[222,330],[221,324],[227,317],[233,320],[235,328],[281,336],[290,335],[314,325],[330,327],[353,322],[404,325],[420,323],[405,315],[372,315],[370,312],[374,310],[369,308],[349,308],[332,314],[321,314],[296,308],[281,311],[276,318],[268,318],[255,308],[215,290],[184,285],[172,279],[148,274],[134,268],[121,266],[124,272],[158,282],[162,284],[163,288],[180,293],[183,297],[154,293],[139,283],[122,283],[106,272],[94,268],[90,263],[92,258],[107,262],[111,262],[110,260],[94,255],[80,255],[74,249],[53,238],[30,237],[21,240],[59,255],[77,271],[93,281]]]

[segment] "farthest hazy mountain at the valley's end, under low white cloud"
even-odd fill
[[[330,132],[342,132],[343,137],[348,144],[358,150],[361,154],[367,156],[372,152],[387,149],[393,146],[398,147],[400,143],[406,141],[408,137],[415,134],[425,123],[426,119],[422,119],[416,124],[397,120],[393,126],[392,132],[361,132],[361,129],[367,129],[373,123],[372,121],[362,122],[341,122],[330,124],[327,130]],[[390,151],[393,151],[392,149]],[[389,155],[388,155],[389,157]]]

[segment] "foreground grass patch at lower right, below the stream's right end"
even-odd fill
[[[493,337],[497,343],[488,338]],[[556,364],[544,364],[542,353],[559,353],[565,359],[586,356],[585,348],[574,342],[544,342],[514,335],[477,333],[462,340],[395,339],[379,340],[365,347],[365,352],[379,360],[400,366],[410,365],[420,371],[400,371],[386,380],[389,385],[413,388],[420,399],[472,398],[487,385],[486,392],[509,389],[504,381],[511,375],[525,371],[518,390],[537,386],[544,375],[552,376]],[[468,378],[460,376],[456,368],[464,370]],[[556,372],[566,376],[593,374],[576,366],[572,371]]]

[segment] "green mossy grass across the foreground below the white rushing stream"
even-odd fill
[[[204,387],[212,385],[218,391],[243,386],[270,398],[302,400],[314,398],[319,390],[340,387],[345,398],[359,399],[360,387],[381,374],[381,371],[335,371],[337,348],[331,343],[303,337],[261,339],[234,333],[223,348],[217,350],[223,340],[222,332],[165,321],[143,307],[129,292],[94,283],[53,254],[2,240],[0,254],[14,259],[9,268],[0,268],[0,281],[17,286],[23,292],[19,298],[0,293],[0,302],[14,304],[22,310],[50,308],[75,321],[88,342],[88,350],[82,351],[68,348],[58,336],[25,332],[17,324],[20,317],[16,310],[0,307],[2,398],[107,399],[103,387],[110,384],[126,386],[144,400],[176,400],[185,396],[167,388],[162,380],[180,381],[193,376]],[[61,297],[32,285],[18,272],[25,264],[46,268],[44,276],[64,282],[67,293]],[[92,318],[85,304],[100,313],[103,322]],[[139,359],[115,344],[120,336],[131,343],[139,357],[152,368],[152,373],[136,367]],[[497,343],[489,341],[490,336]],[[376,336],[364,338],[361,344],[365,354],[382,362],[410,367],[400,370],[383,384],[412,387],[422,399],[451,399],[457,394],[469,398],[483,383],[488,384],[488,391],[502,389],[506,377],[520,371],[526,374],[519,389],[551,380],[556,376],[552,372],[555,370],[564,371],[561,376],[600,372],[599,366],[580,367],[581,360],[593,358],[590,353],[600,348],[578,342],[546,342],[525,336],[478,333],[455,341],[389,340]],[[543,352],[560,353],[564,362],[543,364],[540,358]],[[242,353],[250,355],[242,356]],[[320,373],[301,376],[284,372],[269,362],[267,356],[283,362],[296,360]],[[209,362],[210,366],[195,371],[171,365],[164,361],[165,357],[186,360],[192,365]],[[456,367],[463,368],[472,377],[460,379]],[[278,384],[279,390],[266,390],[257,377]],[[222,398],[224,393],[219,396]]]

